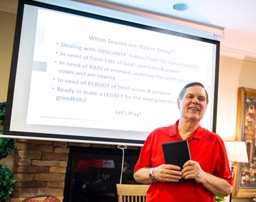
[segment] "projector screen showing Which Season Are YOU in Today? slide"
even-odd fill
[[[216,127],[219,41],[20,1],[3,137],[142,145],[201,82]]]

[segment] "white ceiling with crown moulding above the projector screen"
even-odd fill
[[[220,54],[256,62],[256,1],[255,0],[76,0],[88,4],[126,8],[133,13],[153,14],[188,23],[224,28],[225,40]],[[71,0],[61,1],[70,4]],[[175,11],[175,3],[186,3],[186,11]],[[18,0],[0,0],[0,10],[16,12]]]

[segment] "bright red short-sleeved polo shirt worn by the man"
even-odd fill
[[[182,140],[175,125],[157,128],[144,143],[134,172],[140,168],[152,168],[165,164],[162,144]],[[225,179],[233,184],[223,140],[202,127],[187,138],[191,159],[199,162],[203,171]],[[147,202],[214,202],[214,195],[197,182],[152,182],[147,192]]]

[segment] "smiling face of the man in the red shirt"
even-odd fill
[[[207,94],[200,85],[187,87],[183,98],[178,99],[178,109],[181,112],[180,119],[191,121],[200,121],[203,118],[207,108]]]

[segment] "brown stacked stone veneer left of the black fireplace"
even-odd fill
[[[63,201],[69,146],[116,147],[30,139],[16,139],[16,143],[13,165],[16,182],[11,202],[41,194],[51,194]]]

